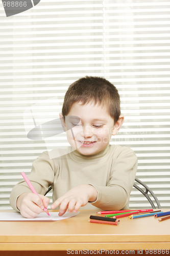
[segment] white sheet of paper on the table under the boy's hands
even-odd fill
[[[78,212],[72,212],[69,214],[67,211],[63,216],[58,216],[59,212],[49,212],[48,216],[45,212],[39,214],[37,217],[28,219],[23,217],[19,212],[0,212],[0,221],[60,221],[70,217],[74,217],[79,214]]]

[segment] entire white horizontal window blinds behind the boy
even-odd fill
[[[169,208],[169,11],[169,1],[41,0],[6,17],[0,3],[0,209],[11,209],[20,172],[47,149],[27,138],[27,110],[34,106],[38,122],[55,119],[68,86],[85,75],[118,89],[125,122],[111,144],[135,151],[137,178]],[[64,134],[48,143],[68,145]],[[150,204],[133,188],[130,207]]]

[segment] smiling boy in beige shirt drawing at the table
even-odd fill
[[[70,144],[68,153],[50,159],[44,152],[33,162],[28,176],[43,203],[21,181],[11,192],[11,206],[22,216],[35,218],[48,206],[50,200],[43,195],[51,185],[51,208],[58,207],[59,216],[67,209],[77,212],[81,206],[128,208],[137,157],[128,147],[109,144],[124,122],[117,89],[101,77],[79,79],[65,94],[60,118]]]

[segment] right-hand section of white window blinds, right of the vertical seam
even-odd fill
[[[105,2],[105,72],[121,96],[125,122],[113,144],[131,147],[137,178],[169,207],[169,11],[168,1]],[[131,207],[149,206],[132,190]]]

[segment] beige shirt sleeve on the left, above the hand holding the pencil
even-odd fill
[[[54,159],[49,159],[48,153],[44,152],[40,157],[38,157],[32,165],[32,170],[30,175],[28,175],[29,180],[34,186],[38,194],[44,195],[48,190],[48,187],[53,184],[55,175],[55,162]],[[17,198],[22,193],[30,193],[31,189],[25,182],[21,180],[12,189],[10,195],[10,205],[16,211],[19,211],[16,207]]]

